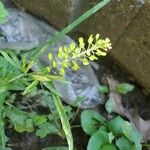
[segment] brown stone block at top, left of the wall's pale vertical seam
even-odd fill
[[[70,17],[70,0],[14,0],[18,7],[26,8],[36,16],[43,17],[57,28],[68,25]]]

